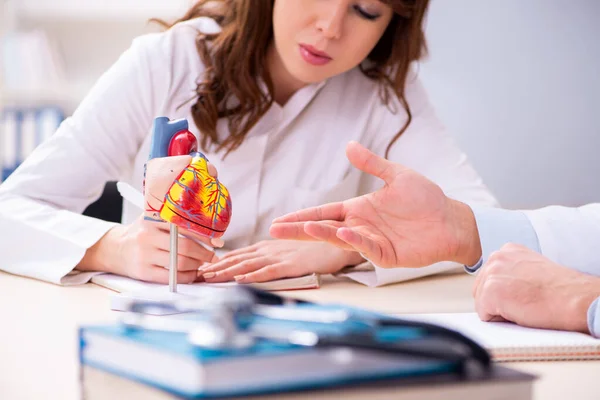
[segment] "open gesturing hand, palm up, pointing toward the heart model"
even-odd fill
[[[363,254],[384,267],[424,267],[440,261],[476,264],[481,245],[471,209],[446,197],[424,176],[351,142],[350,162],[385,181],[365,196],[277,218],[271,236],[320,240]]]

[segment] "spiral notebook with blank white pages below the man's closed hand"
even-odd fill
[[[485,347],[497,362],[600,360],[600,339],[583,333],[524,328],[507,322],[483,322],[476,313],[398,317],[459,331]]]

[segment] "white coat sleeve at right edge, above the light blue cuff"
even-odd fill
[[[600,276],[600,203],[525,211],[541,253],[554,262]]]

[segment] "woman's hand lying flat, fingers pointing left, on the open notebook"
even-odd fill
[[[201,269],[206,282],[266,282],[311,273],[331,274],[363,261],[360,254],[328,243],[266,240],[226,254]]]

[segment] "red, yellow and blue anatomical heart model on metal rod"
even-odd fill
[[[208,172],[185,119],[154,120],[144,178],[145,217],[203,236],[223,236],[231,220],[227,188]]]

